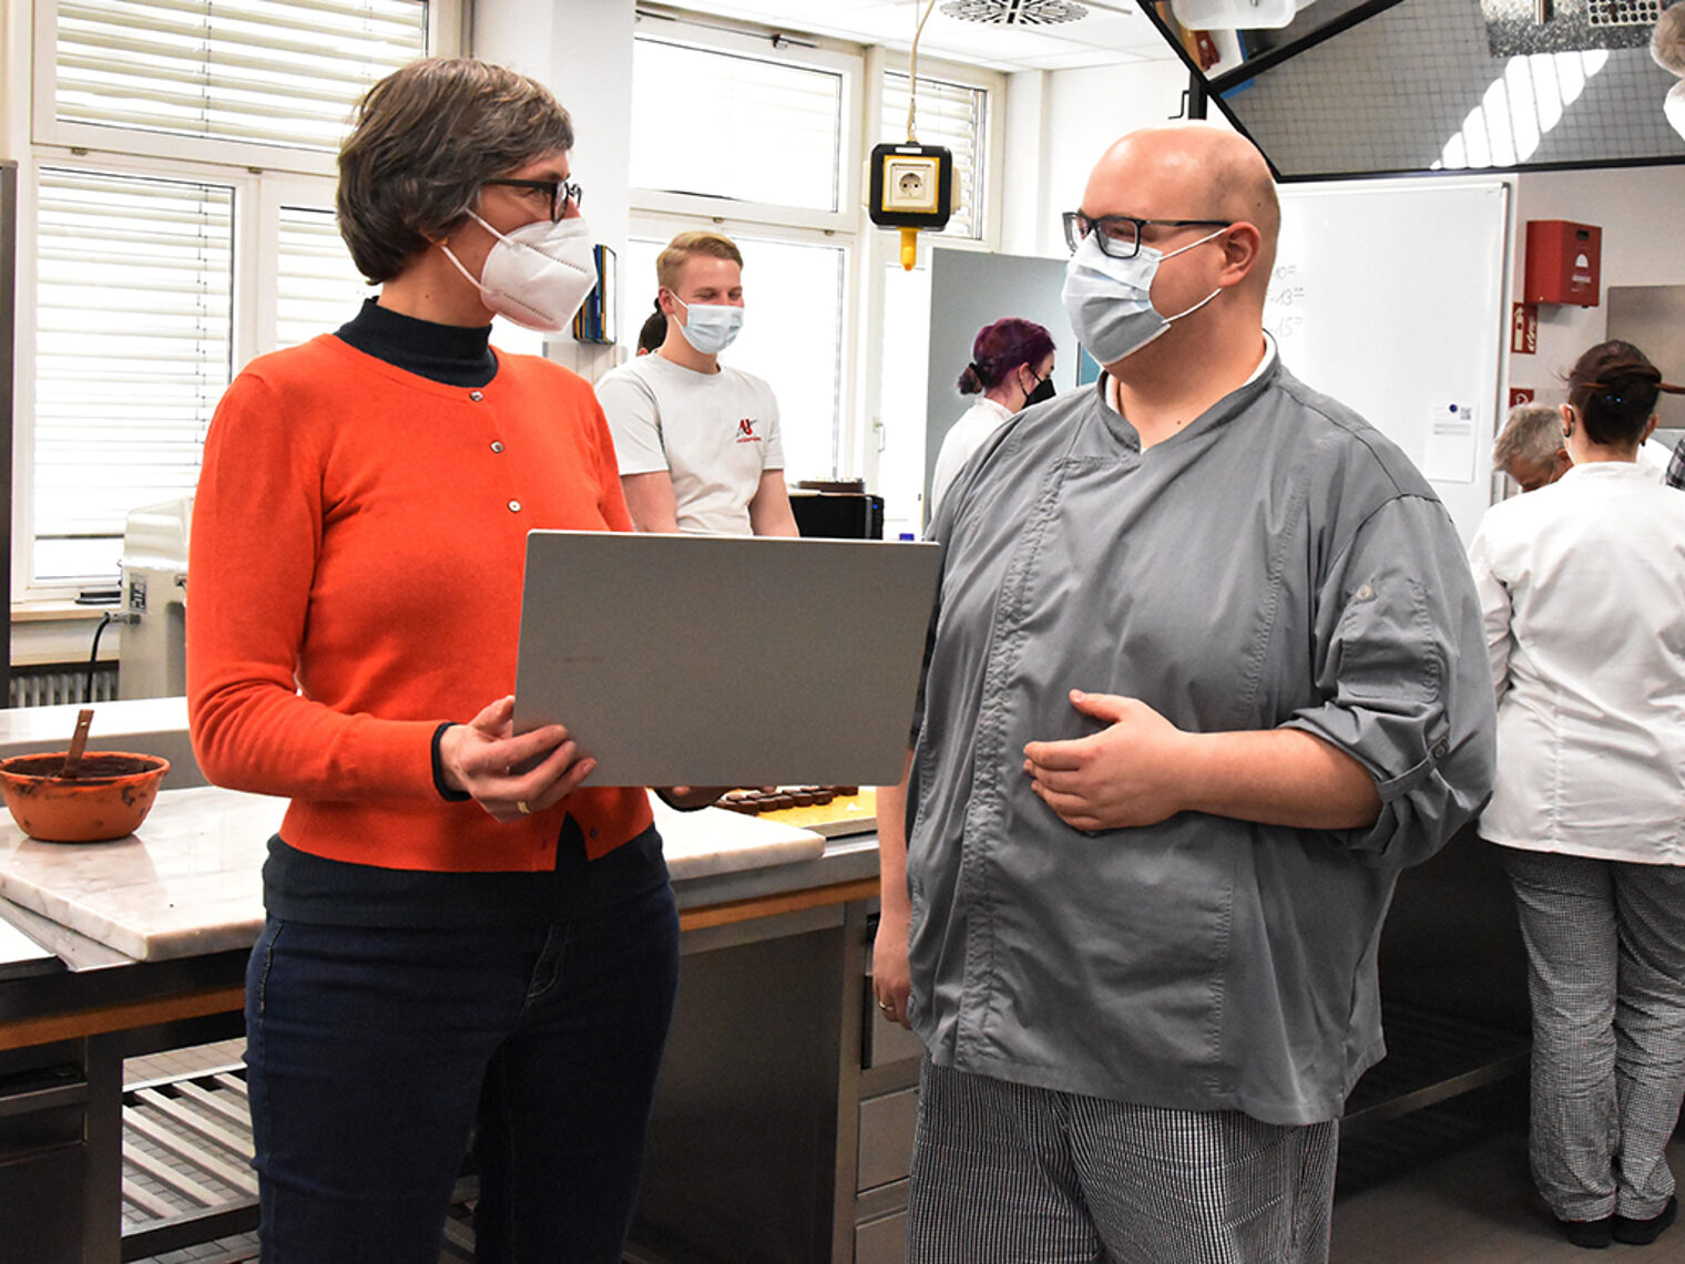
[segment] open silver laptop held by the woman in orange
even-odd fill
[[[937,544],[527,534],[516,730],[595,786],[895,784]]]

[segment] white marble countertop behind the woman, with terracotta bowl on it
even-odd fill
[[[654,806],[676,884],[826,850],[810,830]],[[214,786],[167,789],[135,835],[111,843],[44,843],[5,820],[0,897],[136,961],[246,948],[263,926],[263,858],[285,810],[285,799]]]

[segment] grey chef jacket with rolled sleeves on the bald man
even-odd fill
[[[908,788],[910,1017],[937,1064],[1267,1123],[1335,1119],[1383,1050],[1399,872],[1491,791],[1493,692],[1456,530],[1410,461],[1279,360],[1141,451],[1105,380],[962,470]],[[1292,727],[1375,778],[1367,830],[1185,811],[1087,833],[1024,742]]]

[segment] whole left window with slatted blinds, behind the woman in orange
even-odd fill
[[[356,315],[371,291],[334,227],[334,153],[369,84],[457,13],[35,0],[13,599],[113,584],[130,510],[192,491],[239,365]]]

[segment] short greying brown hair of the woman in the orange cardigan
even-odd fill
[[[339,151],[339,232],[369,281],[391,281],[462,222],[485,180],[573,148],[541,82],[475,57],[426,57],[371,88]]]

